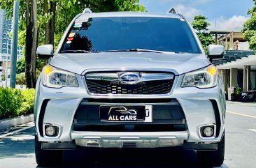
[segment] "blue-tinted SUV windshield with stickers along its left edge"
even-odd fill
[[[165,17],[79,18],[60,52],[135,51],[129,49],[201,53],[187,22]]]

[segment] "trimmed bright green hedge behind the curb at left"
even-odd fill
[[[0,87],[0,119],[33,113],[34,89]]]

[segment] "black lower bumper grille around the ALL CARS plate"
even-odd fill
[[[187,130],[183,109],[178,101],[174,99],[164,105],[152,105],[152,122],[147,123],[101,122],[99,114],[101,105],[104,105],[104,103],[97,105],[90,104],[88,100],[83,100],[73,120],[73,130],[96,132],[168,132]]]

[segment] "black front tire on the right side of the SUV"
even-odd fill
[[[225,155],[225,135],[221,142],[218,143],[216,151],[197,151],[197,160],[200,165],[220,167],[224,162]]]

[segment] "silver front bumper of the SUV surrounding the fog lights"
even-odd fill
[[[101,97],[91,96],[83,79],[79,79],[80,87],[74,89],[64,87],[62,89],[50,89],[43,86],[38,81],[37,96],[35,103],[35,123],[38,140],[40,142],[72,142],[75,141],[78,146],[97,146],[97,147],[122,147],[125,145],[134,145],[136,147],[160,147],[160,146],[181,146],[184,142],[192,143],[216,143],[220,142],[224,132],[225,121],[225,100],[222,98],[221,89],[215,86],[211,89],[180,88],[183,76],[176,77],[171,94],[167,96],[146,97],[146,96],[119,96],[119,97]],[[73,131],[73,119],[80,103],[85,98],[93,98],[101,102],[102,99],[123,99],[123,100],[164,100],[175,99],[179,102],[185,114],[187,130],[170,132],[100,132],[100,131]],[[45,109],[42,111],[43,102],[47,101]],[[98,104],[99,104],[98,102]],[[199,127],[201,125],[216,124],[216,107],[219,116],[218,136],[213,138],[201,138]],[[95,105],[97,102],[88,102]],[[161,102],[143,103],[143,105],[161,105]],[[168,103],[167,103],[168,104]],[[105,102],[104,105],[111,105]],[[142,105],[141,103],[120,103],[115,105]],[[50,123],[58,125],[59,135],[57,137],[47,137],[41,132],[41,123]]]

